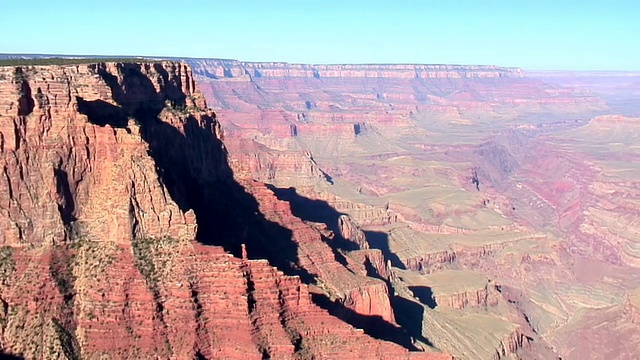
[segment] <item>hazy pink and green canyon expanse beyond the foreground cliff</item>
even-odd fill
[[[187,61],[237,173],[333,233],[351,218],[421,346],[638,356],[638,74]]]

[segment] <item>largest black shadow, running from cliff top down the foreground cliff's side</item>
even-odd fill
[[[241,246],[246,244],[250,258],[268,259],[289,275],[298,275],[307,283],[314,281],[311,274],[297,266],[298,248],[292,231],[268,221],[256,199],[233,178],[227,151],[216,135],[215,115],[190,114],[180,79],[171,78],[160,64],[153,65],[162,78],[159,91],[142,73],[141,65],[118,66],[123,74],[121,80],[106,69],[96,69],[111,88],[118,106],[111,105],[114,109],[104,103],[85,102],[85,112],[106,110],[114,115],[89,118],[100,126],[126,126],[124,119],[133,119],[140,126],[142,139],[149,146],[149,155],[169,195],[180,210],[193,210],[196,216],[196,240],[222,246],[236,257],[242,255]],[[175,116],[181,121],[162,121],[163,110],[173,115],[162,116]]]

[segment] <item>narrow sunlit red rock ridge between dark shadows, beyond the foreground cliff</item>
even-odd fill
[[[349,320],[354,319],[351,315],[380,318],[393,327],[394,313],[387,284],[380,279],[368,277],[366,272],[357,274],[345,258],[345,250],[359,247],[355,237],[353,240],[347,237],[337,238],[339,229],[334,233],[323,223],[311,223],[309,220],[305,223],[302,219],[309,219],[308,214],[296,212],[297,209],[292,209],[289,202],[298,199],[294,189],[276,189],[279,197],[276,198],[262,183],[243,180],[242,184],[256,198],[258,209],[266,220],[286,224],[291,231],[291,243],[263,240],[254,243],[257,253],[271,259],[274,265],[282,268],[288,268],[290,265],[287,261],[292,258],[283,254],[295,253],[293,258],[296,260],[296,267],[291,270],[300,273],[310,282],[319,283],[323,290],[321,296],[327,296],[329,300],[340,305],[338,313]],[[249,254],[251,255],[251,252]],[[356,320],[355,323],[367,328],[364,326],[367,321],[361,323]],[[373,329],[374,332],[379,330]]]

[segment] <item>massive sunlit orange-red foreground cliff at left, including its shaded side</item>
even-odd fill
[[[300,278],[225,252],[248,243],[256,257],[252,231],[290,230],[234,180],[184,64],[0,68],[0,155],[4,352],[447,358],[375,340],[314,305]]]

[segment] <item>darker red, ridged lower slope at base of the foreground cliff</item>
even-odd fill
[[[297,277],[219,247],[84,241],[10,259],[2,348],[30,359],[447,358],[374,340],[315,306]]]

